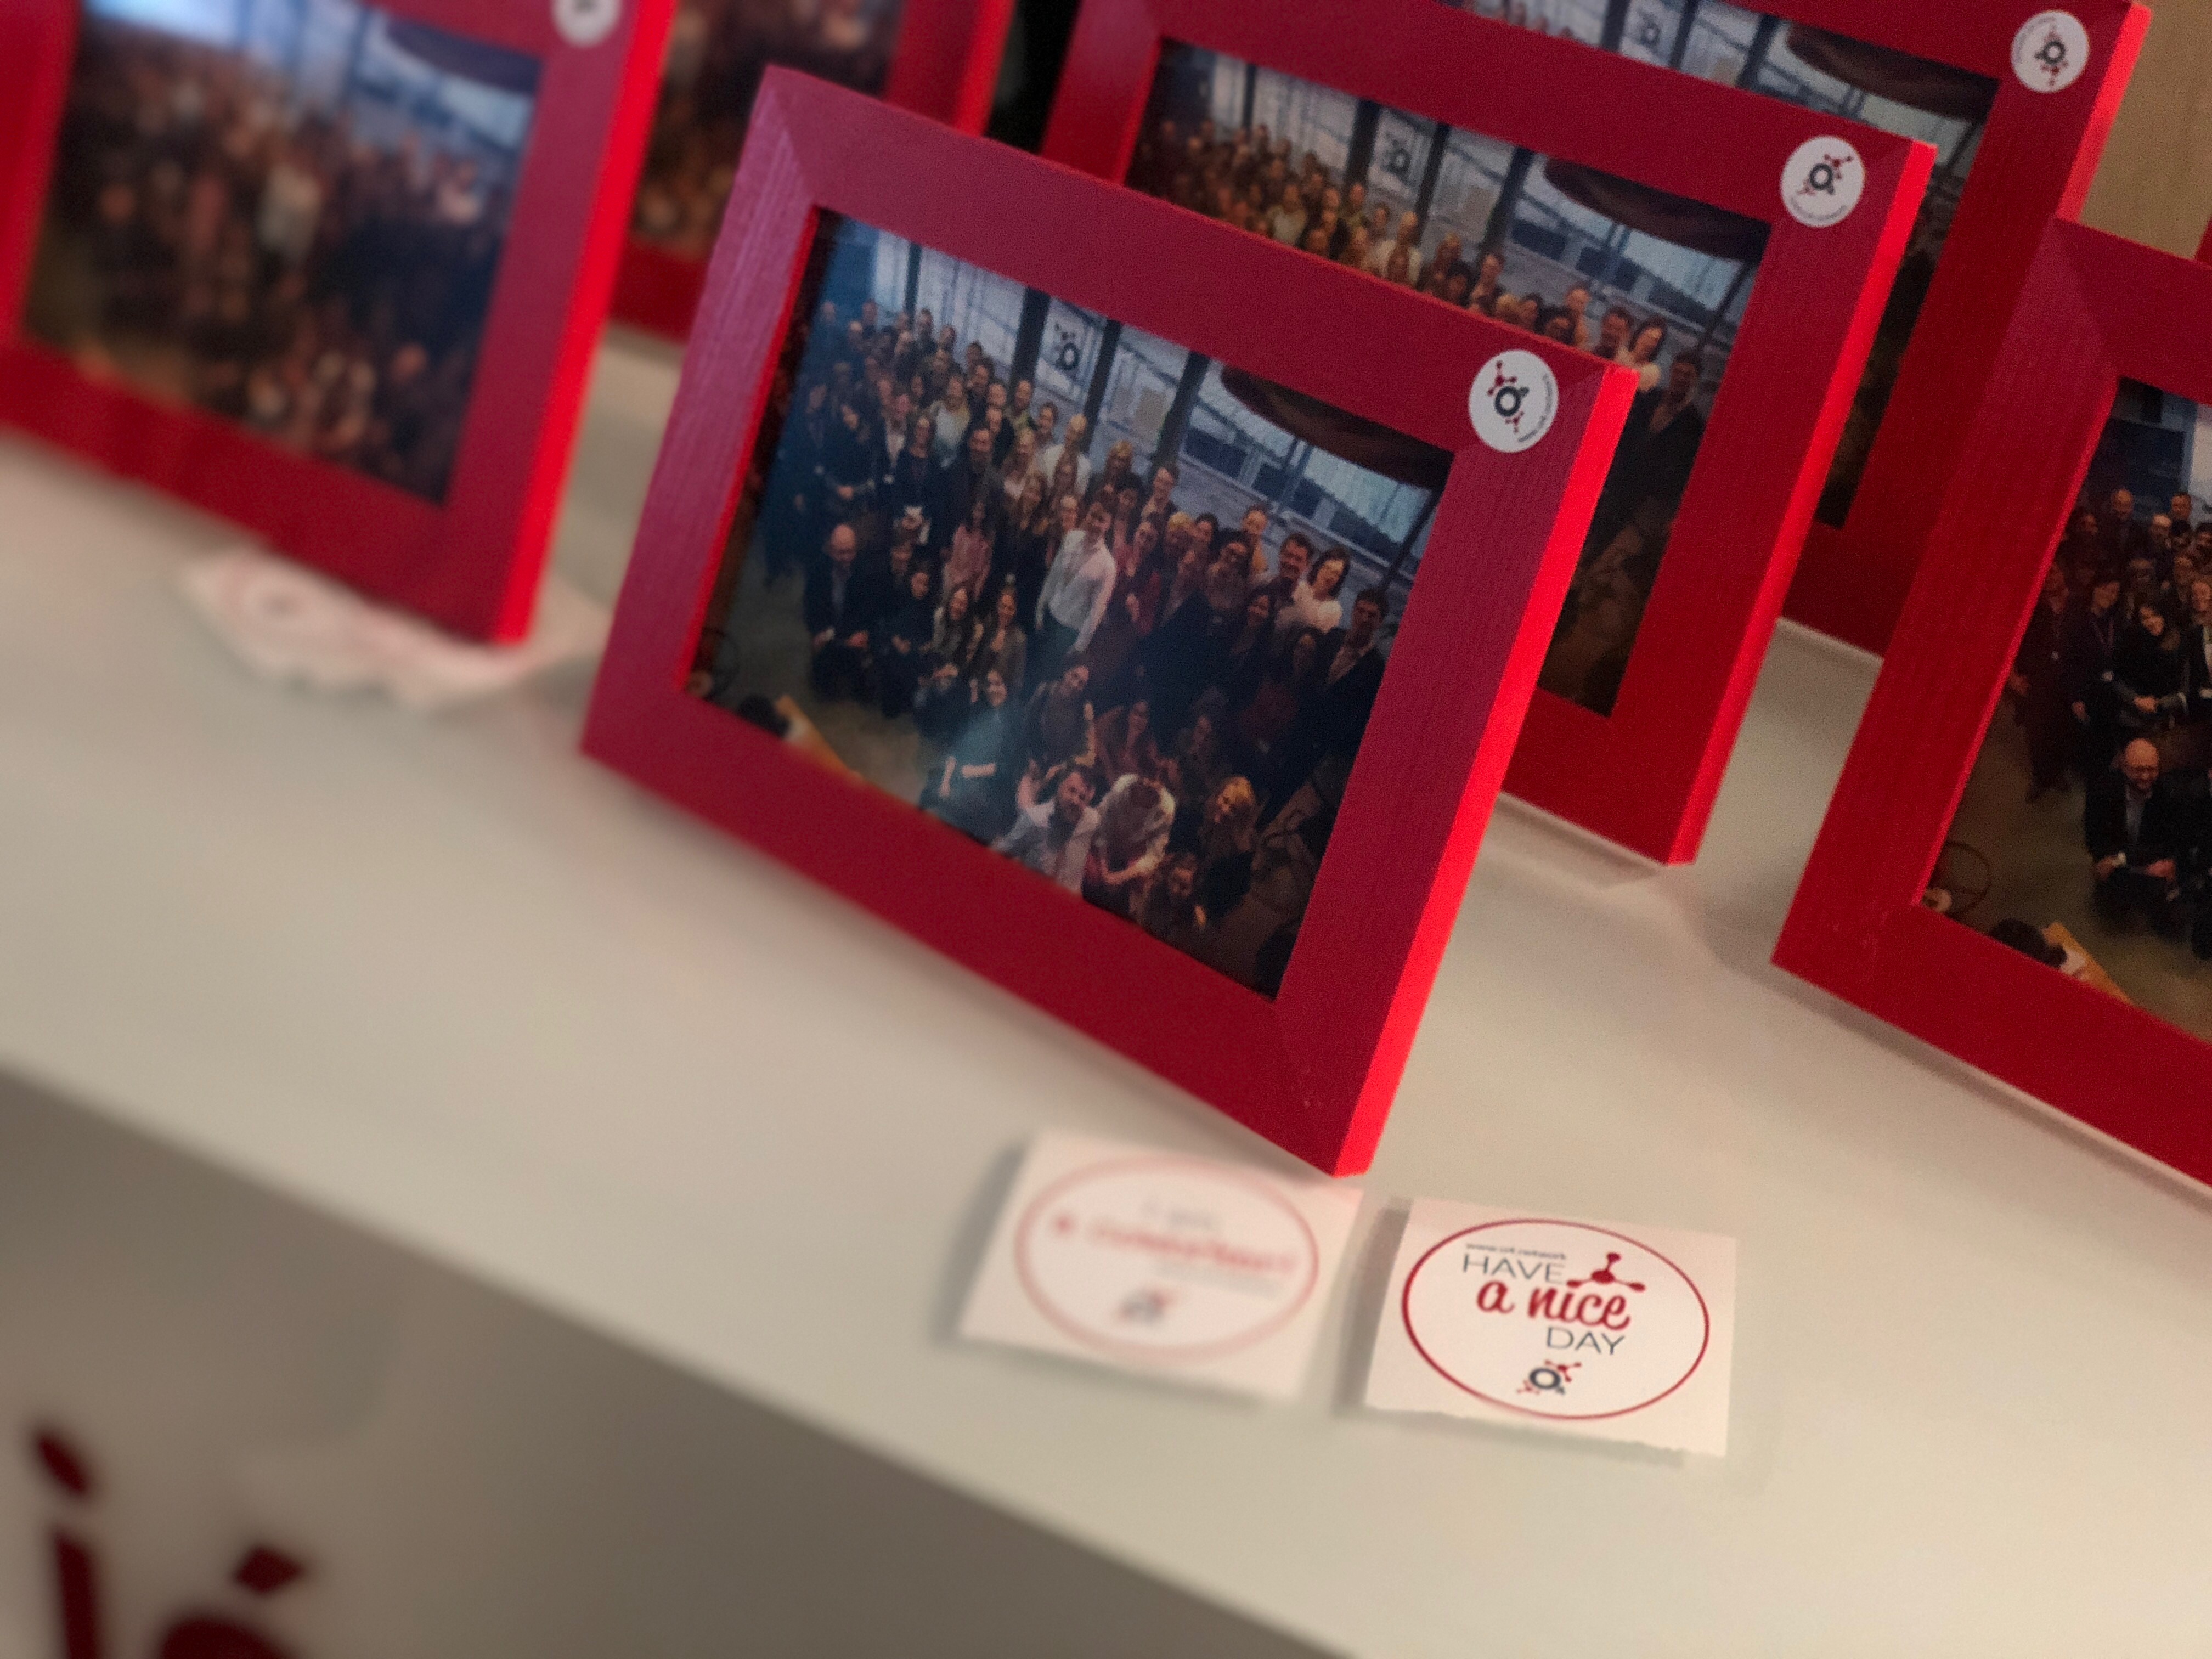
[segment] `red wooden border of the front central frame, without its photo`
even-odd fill
[[[732,199],[586,752],[1310,1164],[1367,1168],[1635,376],[783,71],[763,86]],[[1396,668],[1274,1000],[684,692],[825,212],[1451,456]],[[1130,246],[1148,257],[1106,257]],[[1267,294],[1265,321],[1252,294]],[[1332,349],[1338,338],[1360,345]],[[1559,387],[1551,434],[1511,456],[1469,418],[1478,369],[1509,347],[1535,349]],[[1378,380],[1378,358],[1402,367]]]

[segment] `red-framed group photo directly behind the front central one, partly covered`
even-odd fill
[[[1436,0],[1086,0],[1046,155],[1637,372],[1506,790],[1697,856],[1931,148]]]

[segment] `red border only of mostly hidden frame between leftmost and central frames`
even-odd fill
[[[982,133],[1015,0],[905,2],[883,102]],[[615,321],[681,341],[699,310],[706,268],[706,259],[630,237],[615,279]]]

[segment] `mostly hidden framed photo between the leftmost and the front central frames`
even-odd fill
[[[772,64],[980,133],[1011,20],[1013,0],[677,0],[615,319],[690,332]]]

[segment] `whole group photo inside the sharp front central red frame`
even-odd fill
[[[690,692],[1272,995],[1449,456],[854,221],[810,290]]]

